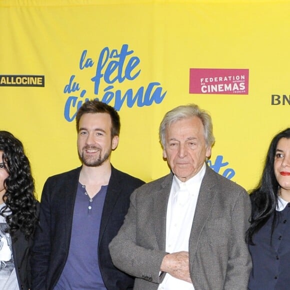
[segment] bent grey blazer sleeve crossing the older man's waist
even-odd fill
[[[139,192],[141,193],[141,192]],[[142,218],[136,206],[138,189],[130,197],[130,206],[118,234],[109,243],[113,264],[120,270],[153,283],[160,283],[160,265],[165,251],[139,246],[137,243],[137,220]]]

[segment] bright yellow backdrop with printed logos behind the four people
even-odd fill
[[[20,138],[38,198],[80,165],[75,112],[98,98],[121,117],[115,167],[168,172],[166,111],[211,113],[208,164],[253,187],[273,134],[290,125],[290,0],[0,0],[0,129]]]

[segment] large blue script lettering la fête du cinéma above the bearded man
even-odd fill
[[[133,56],[133,52],[133,50],[129,50],[128,44],[123,44],[119,50],[110,50],[108,47],[104,47],[100,51],[95,75],[90,78],[93,82],[94,95],[98,95],[102,89],[100,89],[101,80],[106,85],[103,86],[105,88],[103,89],[102,97],[99,95],[95,99],[111,103],[116,110],[120,110],[123,104],[126,104],[128,107],[132,107],[135,104],[138,107],[142,107],[149,106],[153,102],[158,104],[163,100],[167,91],[162,91],[159,82],[149,82],[147,87],[129,87],[123,91],[114,88],[113,84],[115,82],[132,81],[140,74],[141,70],[137,68],[140,59],[137,56]],[[83,70],[84,68],[91,68],[94,65],[92,58],[87,56],[87,50],[82,50],[78,68]],[[80,92],[79,96],[77,96],[77,91]],[[69,82],[65,84],[63,92],[69,94],[64,105],[64,118],[71,122],[76,116],[77,109],[89,98],[84,97],[86,90],[81,89],[79,83],[75,81],[75,74],[70,76]]]

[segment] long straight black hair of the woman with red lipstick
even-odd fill
[[[264,169],[258,186],[250,191],[252,202],[252,213],[250,219],[250,227],[246,232],[246,241],[249,244],[254,244],[252,237],[274,213],[272,222],[272,232],[276,223],[276,206],[278,203],[279,184],[274,173],[274,159],[277,148],[277,143],[281,138],[290,138],[290,128],[276,134],[269,146]]]

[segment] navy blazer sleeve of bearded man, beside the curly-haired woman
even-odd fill
[[[46,273],[50,255],[50,202],[49,178],[44,184],[39,212],[39,225],[36,227],[31,251],[31,289],[45,289]]]

